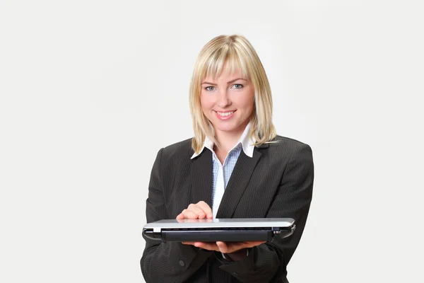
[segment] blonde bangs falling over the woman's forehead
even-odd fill
[[[200,70],[200,79],[203,81],[209,76],[216,79],[221,74],[233,74],[236,70],[240,70],[244,79],[250,79],[247,64],[241,59],[245,57],[237,51],[234,46],[224,45],[213,52]]]

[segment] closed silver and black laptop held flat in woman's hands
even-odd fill
[[[163,219],[143,226],[143,235],[163,242],[272,241],[295,230],[291,218]]]

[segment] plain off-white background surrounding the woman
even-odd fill
[[[314,152],[290,282],[424,282],[420,2],[1,0],[0,282],[143,282],[151,166],[233,33]]]

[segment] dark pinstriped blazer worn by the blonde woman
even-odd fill
[[[140,263],[147,283],[288,282],[286,265],[298,246],[312,200],[314,164],[307,144],[280,136],[275,141],[255,147],[252,158],[240,153],[216,217],[290,217],[296,224],[293,235],[254,247],[238,262],[194,246],[145,238]],[[190,159],[191,143],[187,139],[158,152],[146,201],[148,223],[175,219],[201,200],[211,206],[211,151],[204,149]]]

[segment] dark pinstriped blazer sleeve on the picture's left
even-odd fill
[[[169,219],[161,172],[162,155],[163,149],[160,149],[151,172],[146,201],[147,223]],[[145,236],[143,238],[146,240],[146,247],[140,265],[146,283],[185,282],[213,254],[182,243],[163,243]]]

